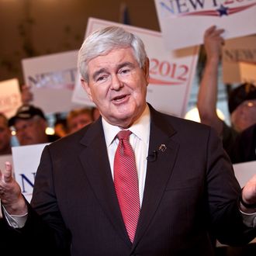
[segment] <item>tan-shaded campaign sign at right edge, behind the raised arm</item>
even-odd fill
[[[241,62],[255,65],[256,36],[243,36],[225,42],[222,51],[223,82],[225,84],[244,82],[243,77],[248,69],[241,67]],[[247,73],[247,75],[249,74]]]

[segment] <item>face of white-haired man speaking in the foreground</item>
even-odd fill
[[[111,50],[89,61],[88,78],[82,85],[108,123],[127,128],[144,111],[148,61],[140,68],[131,48]]]

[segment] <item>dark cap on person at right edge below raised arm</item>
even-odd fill
[[[256,99],[255,85],[243,84],[239,85],[237,88],[234,88],[234,90],[230,92],[228,100],[228,109],[230,114],[237,109],[237,106],[250,99]]]

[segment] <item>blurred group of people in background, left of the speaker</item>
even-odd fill
[[[54,134],[47,134],[47,116],[42,109],[26,102],[10,119],[0,113],[0,155],[12,154],[12,130],[15,131],[19,146],[44,144],[74,133],[98,118],[99,111],[96,108],[71,109],[67,117],[56,120]]]

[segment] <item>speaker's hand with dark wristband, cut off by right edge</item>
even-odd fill
[[[252,208],[247,208],[241,203],[241,210],[244,213],[256,213],[256,175],[254,175],[244,186],[241,196],[241,199],[245,202],[245,204],[254,206]]]

